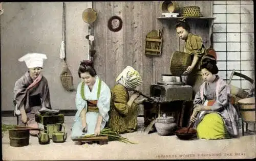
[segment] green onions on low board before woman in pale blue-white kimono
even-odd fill
[[[134,142],[129,141],[127,138],[121,137],[119,133],[116,130],[113,130],[112,128],[104,128],[103,130],[100,131],[99,136],[108,136],[109,141],[118,140],[119,142],[136,144]],[[92,135],[81,136],[79,137],[79,139],[91,138],[91,137],[95,137],[95,135],[92,134]]]

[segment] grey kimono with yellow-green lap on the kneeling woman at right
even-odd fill
[[[194,124],[194,127],[197,127],[198,137],[201,139],[238,137],[238,113],[229,101],[229,86],[219,76],[211,84],[206,82],[202,84],[194,104],[205,104],[209,100],[215,100],[211,105],[211,111],[199,112]]]

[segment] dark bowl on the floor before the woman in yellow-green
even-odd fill
[[[197,137],[197,130],[194,128],[190,128],[187,132],[188,127],[181,127],[178,128],[174,134],[180,139],[180,140],[190,140]],[[186,133],[187,132],[187,133]]]

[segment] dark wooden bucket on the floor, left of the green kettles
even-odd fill
[[[29,145],[29,130],[26,129],[10,129],[9,130],[10,145],[13,147],[22,147]]]

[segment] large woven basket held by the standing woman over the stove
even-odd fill
[[[191,63],[191,56],[188,53],[175,51],[170,57],[170,72],[174,76],[183,75],[183,72]]]

